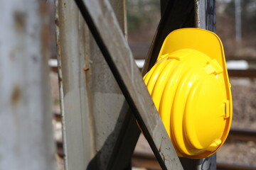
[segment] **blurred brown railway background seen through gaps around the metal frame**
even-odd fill
[[[61,145],[60,107],[58,96],[58,73],[55,66],[55,25],[53,0],[49,0],[51,22],[50,47],[53,67],[50,73],[53,113],[55,114],[55,140]],[[216,0],[216,33],[223,41],[225,57],[230,70],[230,83],[233,93],[233,130],[237,135],[230,135],[217,153],[218,163],[239,164],[256,167],[256,1],[255,0]],[[149,50],[151,40],[161,17],[159,0],[127,0],[127,38],[134,58],[142,67]],[[231,75],[232,74],[232,75]],[[245,130],[245,131],[242,131]],[[238,137],[240,133],[251,132],[247,138]],[[253,133],[254,132],[254,133]],[[60,148],[60,147],[59,147]],[[144,137],[140,137],[135,152],[152,154]],[[59,169],[63,169],[61,149],[58,150]],[[147,164],[147,165],[146,165]],[[146,168],[133,159],[134,169]],[[157,164],[157,162],[156,162]],[[157,169],[157,165],[151,165]],[[150,168],[146,168],[150,169]]]

